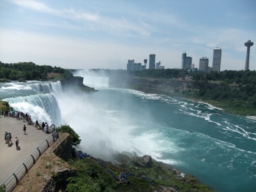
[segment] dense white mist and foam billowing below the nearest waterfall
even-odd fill
[[[72,108],[66,108],[66,103]],[[122,109],[109,110],[108,105],[94,101],[93,97],[73,95],[66,98],[62,95],[59,105],[64,122],[81,136],[83,150],[95,157],[109,155],[111,151],[135,151],[138,155],[150,154],[153,158],[161,158],[161,152],[172,149],[174,145],[163,140],[165,137],[159,131],[140,131],[152,126],[151,122],[142,125],[138,121],[130,121]]]

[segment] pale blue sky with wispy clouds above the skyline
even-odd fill
[[[128,59],[143,63],[155,54],[172,69],[180,68],[183,52],[195,67],[202,57],[212,66],[221,47],[221,70],[244,70],[249,39],[256,43],[255,0],[0,1],[4,63],[126,69]]]

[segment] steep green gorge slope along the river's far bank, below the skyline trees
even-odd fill
[[[256,115],[256,93],[250,84],[202,82],[180,79],[151,79],[140,77],[111,77],[110,85],[131,88],[145,93],[172,95],[207,102],[228,113]]]

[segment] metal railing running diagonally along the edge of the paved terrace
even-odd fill
[[[59,138],[58,133],[54,133],[48,138],[46,138],[31,154],[29,157],[17,168],[12,175],[10,175],[0,186],[6,187],[6,191],[12,191],[15,189],[17,184],[22,180],[22,178],[29,172],[29,169],[35,164],[37,159],[42,155],[42,153],[47,150],[47,148],[54,143]]]

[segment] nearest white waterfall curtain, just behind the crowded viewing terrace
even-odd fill
[[[41,86],[47,87],[48,85]],[[47,122],[49,125],[54,123],[56,126],[61,125],[61,109],[54,93],[27,95],[24,97],[5,98],[10,106],[31,115],[32,121]]]

